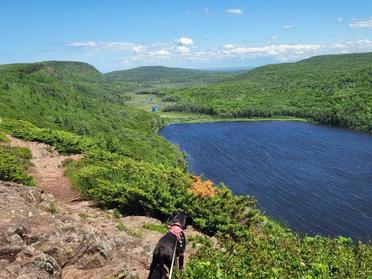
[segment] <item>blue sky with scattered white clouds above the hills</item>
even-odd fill
[[[212,69],[368,51],[371,0],[0,0],[0,64]]]

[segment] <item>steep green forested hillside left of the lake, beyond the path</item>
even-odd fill
[[[157,135],[161,119],[125,105],[126,98],[125,88],[116,89],[85,63],[0,66],[0,118],[89,136],[122,155],[180,164],[182,154]]]

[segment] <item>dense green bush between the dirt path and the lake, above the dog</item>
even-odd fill
[[[86,198],[107,208],[118,208],[125,215],[147,215],[166,221],[180,210],[193,225],[209,234],[246,237],[246,230],[257,211],[254,200],[234,196],[221,185],[218,195],[199,198],[189,187],[192,177],[180,168],[154,165],[130,158],[108,162],[88,156],[71,162],[68,175]],[[94,163],[93,163],[94,161]]]

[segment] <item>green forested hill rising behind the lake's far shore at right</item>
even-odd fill
[[[296,116],[372,131],[372,53],[267,65],[230,82],[170,89],[168,111],[223,117]]]

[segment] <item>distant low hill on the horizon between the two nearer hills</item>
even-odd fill
[[[214,72],[204,70],[168,68],[163,66],[145,66],[129,70],[107,73],[106,78],[111,81],[138,83],[203,83],[217,82],[234,76],[233,73]]]

